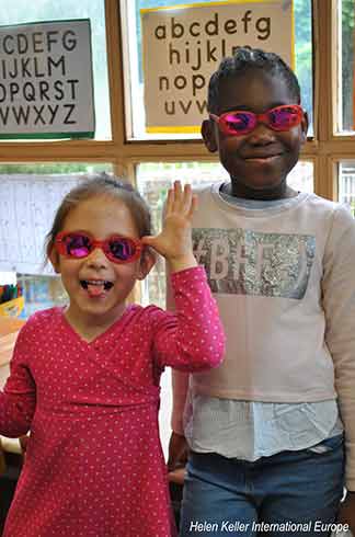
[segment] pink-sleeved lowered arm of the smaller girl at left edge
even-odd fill
[[[30,349],[26,340],[24,325],[10,362],[10,377],[0,392],[0,434],[13,438],[27,433],[36,405],[35,384],[26,361]]]

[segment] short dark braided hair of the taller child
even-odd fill
[[[224,58],[217,71],[213,73],[208,85],[208,112],[219,113],[219,93],[221,84],[233,77],[239,77],[251,69],[263,69],[284,80],[297,104],[300,103],[300,88],[295,72],[274,53],[249,46],[236,47],[233,56]]]

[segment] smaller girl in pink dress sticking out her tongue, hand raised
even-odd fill
[[[0,432],[30,431],[4,537],[174,535],[158,430],[165,365],[217,366],[224,333],[192,252],[196,201],[169,191],[161,233],[130,186],[106,175],[71,191],[47,236],[66,307],[21,330],[0,395]],[[171,271],[175,313],[126,304],[154,263]]]

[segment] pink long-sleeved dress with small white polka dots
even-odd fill
[[[94,341],[61,308],[21,330],[0,395],[0,432],[31,431],[3,537],[171,537],[159,439],[165,365],[217,366],[225,336],[202,267],[172,275],[176,312],[127,307]]]

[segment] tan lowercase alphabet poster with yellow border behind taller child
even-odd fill
[[[293,0],[230,0],[140,10],[147,133],[199,133],[210,75],[236,46],[294,66]]]

